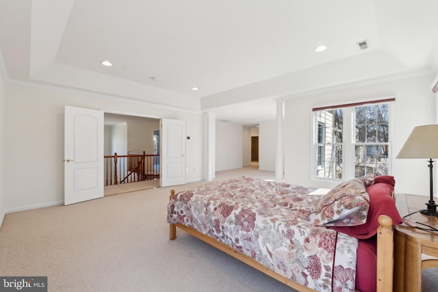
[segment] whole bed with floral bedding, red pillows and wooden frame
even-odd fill
[[[298,291],[392,291],[394,185],[369,174],[321,194],[242,177],[171,191],[170,239],[178,227]]]

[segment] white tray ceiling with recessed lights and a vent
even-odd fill
[[[8,81],[257,124],[278,97],[437,72],[437,11],[436,0],[2,0],[0,67]]]

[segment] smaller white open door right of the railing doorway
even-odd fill
[[[160,120],[159,185],[185,184],[185,120]]]

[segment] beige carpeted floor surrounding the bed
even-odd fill
[[[254,167],[218,172],[273,179]],[[198,239],[168,239],[170,189],[10,213],[0,229],[0,276],[48,276],[49,291],[294,291]],[[437,291],[437,271],[426,273]]]

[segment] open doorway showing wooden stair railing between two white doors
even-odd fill
[[[159,187],[159,157],[149,157],[149,155],[159,155],[158,118],[105,113],[104,155],[110,159],[109,156],[114,157],[115,153],[118,155],[116,175],[114,174],[114,159],[113,162],[105,163],[105,196]],[[146,157],[151,161],[147,162],[146,168],[140,170],[142,174],[145,174],[140,180],[138,179],[140,174],[133,173],[132,168],[135,167],[133,163]],[[128,160],[124,162],[123,159],[129,159],[129,162],[126,162]],[[123,176],[126,177],[123,178]],[[115,181],[118,183],[115,184]]]

